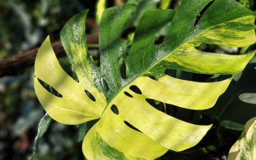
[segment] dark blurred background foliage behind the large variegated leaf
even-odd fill
[[[129,29],[122,36],[123,48],[127,50],[130,47],[130,36],[140,18],[138,15],[147,8],[162,6],[177,9],[180,3],[179,0],[172,0],[164,5],[161,1],[154,0],[145,5],[145,0],[133,1],[138,7],[126,24]],[[256,9],[256,2],[253,0],[237,1],[252,11]],[[114,0],[108,0],[107,7],[114,6],[115,3]],[[82,0],[0,1],[0,22],[4,22],[0,23],[0,58],[11,56],[19,50],[39,46],[48,34],[52,42],[59,40],[60,29],[73,15],[89,8],[88,17],[94,18],[95,6],[96,1]],[[159,32],[155,38],[156,43],[165,32],[164,28]],[[204,51],[243,54],[243,49],[237,48],[206,44],[199,47]],[[255,48],[250,47],[251,50]],[[97,53],[97,50],[89,52]],[[59,61],[64,70],[72,76],[72,68],[67,57],[60,58]],[[183,152],[168,151],[159,159],[226,159],[245,122],[256,116],[256,86],[253,79],[256,77],[255,66],[256,58],[251,60],[245,71],[235,77],[227,92],[212,109],[179,115],[181,111],[171,107],[169,112],[176,116],[186,117],[194,123],[213,123],[214,126],[197,146]],[[33,154],[38,123],[44,116],[44,110],[34,93],[33,73],[33,68],[27,68],[18,76],[0,78],[0,160],[30,159]],[[216,78],[222,77],[196,74],[192,77],[200,82],[215,81]],[[83,124],[80,128],[85,132],[94,123]],[[76,132],[75,136],[73,133]],[[83,159],[81,140],[78,126],[68,126],[52,120],[35,154],[38,159]]]

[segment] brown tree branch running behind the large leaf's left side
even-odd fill
[[[92,33],[86,35],[88,44],[98,43],[98,25],[94,19],[87,18],[85,23],[87,28],[92,29]],[[60,41],[52,43],[52,48],[55,51],[56,57],[63,57],[66,55]],[[23,73],[24,69],[33,66],[38,48],[28,51],[20,51],[18,54],[0,60],[0,77],[16,76]]]

